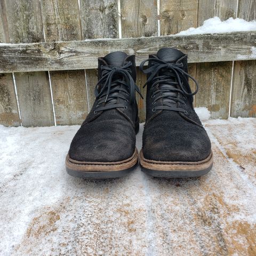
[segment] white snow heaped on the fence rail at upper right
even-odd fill
[[[246,21],[240,18],[229,18],[221,21],[219,17],[205,20],[203,25],[197,28],[189,28],[181,31],[176,35],[196,35],[196,34],[213,34],[213,33],[231,33],[242,31],[255,31],[256,21]]]

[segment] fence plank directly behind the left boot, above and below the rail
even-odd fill
[[[118,37],[117,0],[81,0],[80,4],[83,39]],[[95,100],[94,86],[98,82],[98,70],[87,69],[85,73],[88,103],[91,109]]]

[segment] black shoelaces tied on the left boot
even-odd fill
[[[101,66],[102,77],[99,79],[94,90],[96,99],[99,100],[94,113],[113,108],[127,109],[124,103],[117,103],[118,98],[128,102],[125,96],[120,92],[124,92],[127,96],[130,96],[132,103],[135,101],[135,91],[142,97],[138,86],[134,83],[131,76],[131,66],[131,62],[126,63],[122,67]],[[100,84],[101,88],[99,92]],[[100,106],[102,104],[103,106]]]

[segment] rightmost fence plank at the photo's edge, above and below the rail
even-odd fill
[[[237,17],[256,19],[256,0],[239,0]],[[256,61],[235,61],[230,115],[256,117]]]

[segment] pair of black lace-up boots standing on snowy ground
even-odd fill
[[[193,108],[198,85],[188,74],[187,55],[162,48],[140,65],[147,74],[147,113],[139,154],[135,55],[112,52],[98,62],[96,99],[71,142],[68,174],[118,178],[131,172],[138,159],[142,171],[154,177],[197,177],[210,171],[211,142]],[[193,93],[189,77],[196,84]]]

